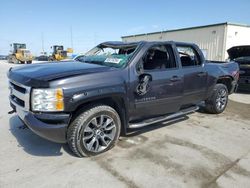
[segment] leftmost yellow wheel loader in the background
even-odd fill
[[[11,46],[11,53],[8,56],[9,63],[15,64],[27,64],[32,63],[33,56],[31,52],[26,48],[26,44],[21,43],[13,43]]]

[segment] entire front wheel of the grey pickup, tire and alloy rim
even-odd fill
[[[70,124],[67,141],[76,156],[94,156],[111,149],[120,136],[120,130],[121,120],[113,108],[106,105],[93,105],[79,113]]]

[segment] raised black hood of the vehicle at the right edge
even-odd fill
[[[250,46],[234,46],[227,50],[229,59],[233,60],[239,57],[250,56]]]

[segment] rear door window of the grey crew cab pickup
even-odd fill
[[[177,50],[181,58],[182,67],[201,65],[199,55],[191,46],[177,46]]]

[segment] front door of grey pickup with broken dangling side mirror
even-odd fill
[[[148,118],[178,111],[183,93],[183,77],[172,46],[153,45],[140,61],[138,64],[143,64],[143,71],[137,72],[131,83],[135,108],[130,117]]]

